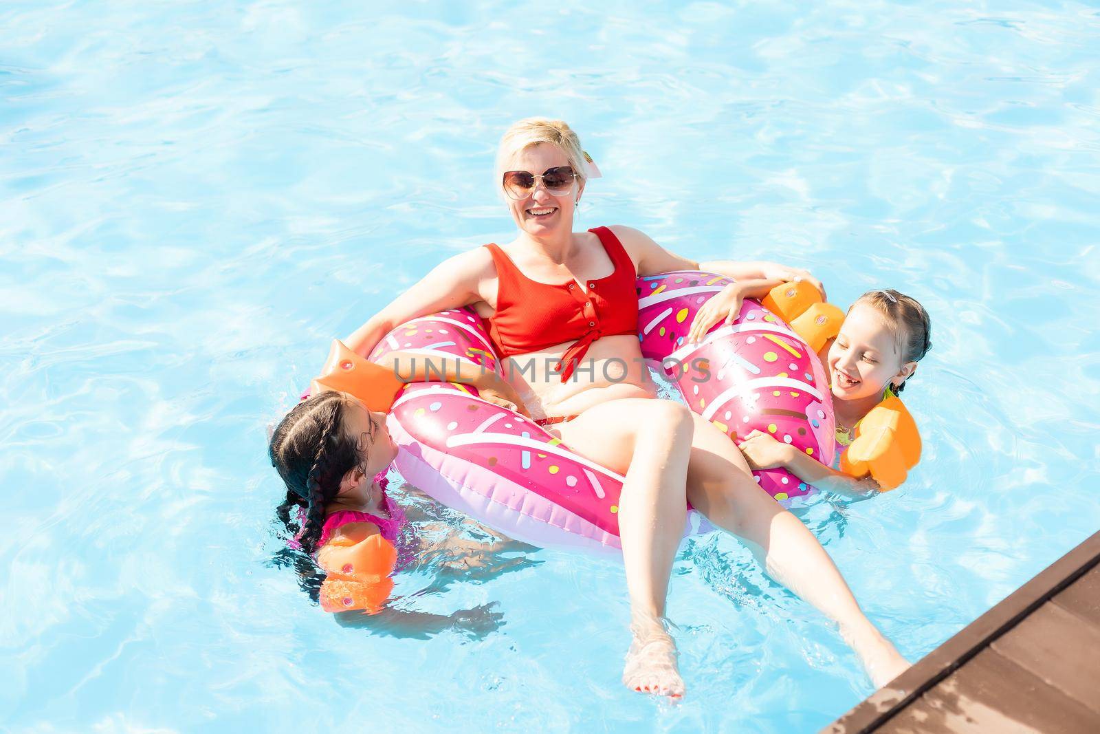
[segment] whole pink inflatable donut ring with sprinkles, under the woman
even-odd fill
[[[685,346],[691,320],[730,281],[675,272],[638,280],[642,355],[733,440],[754,428],[832,462],[834,421],[824,372],[805,342],[755,300],[737,322]],[[466,308],[414,319],[391,331],[370,359],[394,351],[460,359],[499,371],[482,319]],[[455,383],[419,383],[387,419],[406,481],[505,535],[542,548],[617,554],[624,478],[581,457],[528,418]],[[787,503],[813,492],[785,470],[755,472]],[[686,534],[713,526],[690,512]]]

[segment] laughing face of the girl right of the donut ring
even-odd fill
[[[828,350],[833,396],[840,401],[879,396],[887,383],[908,377],[916,362],[903,363],[900,347],[881,314],[864,304],[853,306]]]

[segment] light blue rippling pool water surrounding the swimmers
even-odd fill
[[[924,461],[803,518],[915,659],[1100,527],[1094,3],[0,7],[0,722],[12,731],[814,731],[870,692],[727,537],[685,547],[689,697],[618,683],[618,565],[312,606],[265,430],[342,336],[509,237],[508,123],[604,178],[579,226],[932,314]],[[491,605],[491,606],[485,606]]]

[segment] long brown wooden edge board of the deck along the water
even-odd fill
[[[1047,599],[1076,581],[1098,560],[1100,560],[1100,533],[1086,538],[822,732],[847,734],[872,731],[972,658],[991,640],[1011,629]]]

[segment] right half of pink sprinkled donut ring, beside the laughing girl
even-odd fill
[[[695,313],[730,282],[697,271],[638,278],[642,357],[735,442],[756,429],[831,465],[836,424],[828,382],[787,322],[747,298],[732,326],[719,321],[700,343],[685,343]],[[752,473],[784,505],[815,491],[785,469]]]

